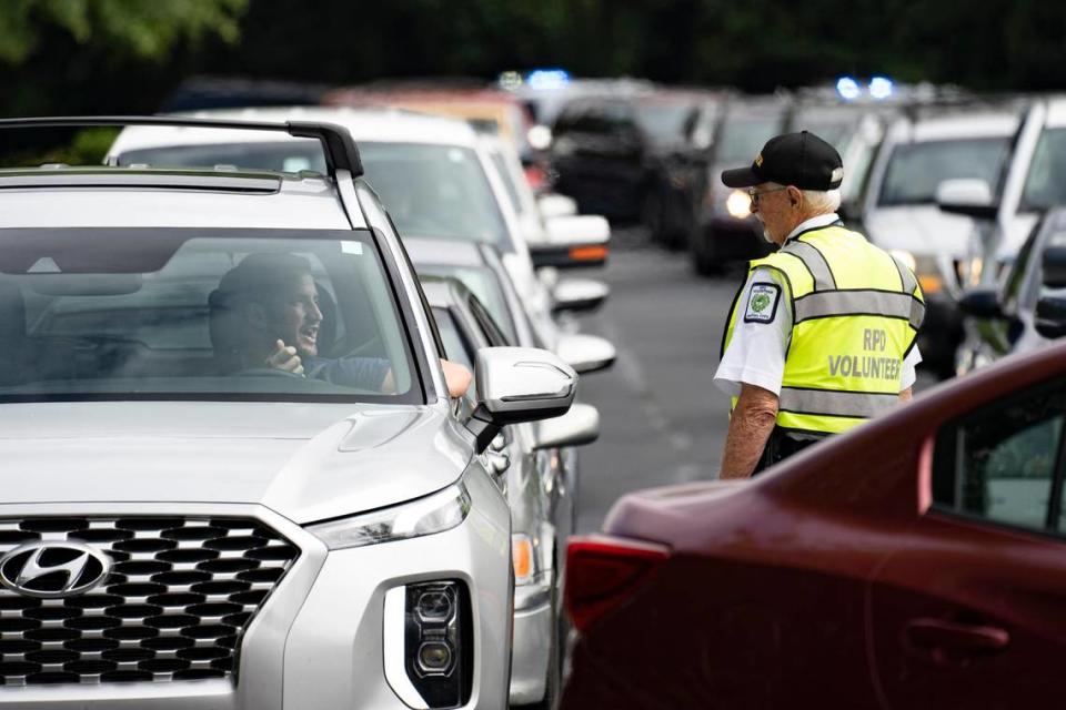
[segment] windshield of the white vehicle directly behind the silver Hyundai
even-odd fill
[[[360,142],[371,184],[403,236],[495,244],[512,251],[489,178],[469,148]],[[172,145],[125,151],[120,165],[153,168],[234,165],[244,169],[325,173],[318,141]]]

